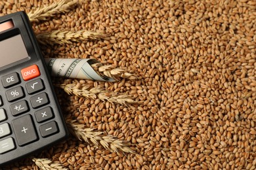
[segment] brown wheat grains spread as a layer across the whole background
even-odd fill
[[[50,3],[3,0],[0,13]],[[128,141],[136,154],[70,137],[33,158],[68,169],[256,168],[256,1],[84,0],[33,29],[104,33],[99,41],[41,48],[45,57],[96,58],[138,76],[68,80],[132,94],[137,103],[127,106],[56,90],[66,118]],[[37,169],[31,158],[5,168]]]

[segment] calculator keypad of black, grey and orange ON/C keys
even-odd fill
[[[33,74],[26,76],[28,71]],[[59,131],[55,121],[47,122],[54,118],[54,112],[50,106],[43,107],[50,103],[49,96],[43,92],[45,90],[43,80],[41,78],[31,80],[40,76],[37,65],[22,69],[21,76],[22,79],[18,73],[11,73],[1,78],[3,86],[7,88],[5,95],[10,107],[9,110],[0,108],[0,154],[14,150],[16,146],[33,143],[40,136],[46,138]],[[23,80],[28,81],[24,87],[20,86]],[[0,106],[6,104],[8,102],[3,103],[3,97],[0,96]],[[10,123],[5,122],[8,119],[8,112],[16,117]],[[35,124],[39,125],[35,126]],[[11,134],[14,136],[9,136]]]

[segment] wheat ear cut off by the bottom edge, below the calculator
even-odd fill
[[[47,158],[33,158],[35,165],[42,170],[68,170],[64,168],[60,163],[54,163],[53,161]]]

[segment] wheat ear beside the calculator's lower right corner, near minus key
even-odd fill
[[[119,152],[119,150],[127,153],[135,153],[127,146],[125,141],[120,141],[112,135],[102,136],[103,132],[95,131],[91,128],[86,128],[83,124],[77,124],[76,120],[67,121],[70,133],[72,133],[80,141],[93,143],[95,146],[103,146],[111,152]]]

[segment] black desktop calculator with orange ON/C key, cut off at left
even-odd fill
[[[0,17],[0,166],[68,136],[25,12]]]

